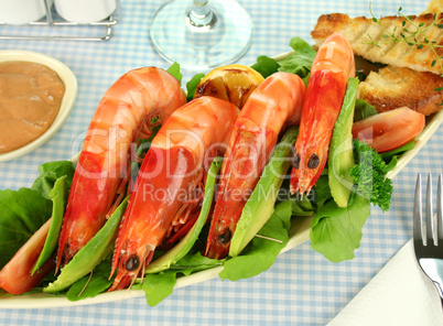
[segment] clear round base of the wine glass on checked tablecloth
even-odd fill
[[[237,61],[251,34],[251,19],[236,0],[172,0],[160,7],[150,28],[162,57],[194,70]]]

